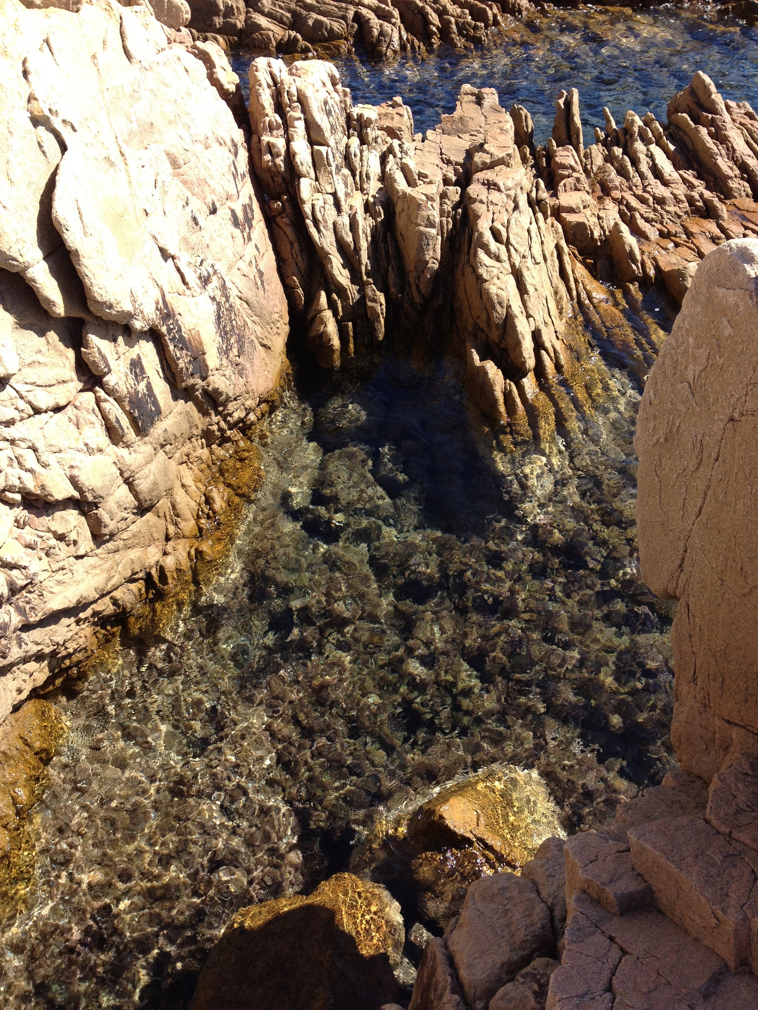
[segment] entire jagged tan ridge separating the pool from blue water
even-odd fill
[[[421,137],[400,98],[354,107],[329,64],[259,59],[250,80],[253,161],[319,364],[339,367],[388,325],[424,334],[466,360],[475,399],[517,437],[576,431],[604,395],[572,320],[640,379],[653,364],[663,334],[630,326],[598,278],[661,279],[680,298],[700,257],[758,233],[758,117],[702,74],[667,129],[632,111],[619,128],[607,113],[587,147],[578,93],[562,92],[538,148],[528,110],[505,112],[492,89],[464,86]],[[706,123],[690,131],[697,146],[680,107]]]

